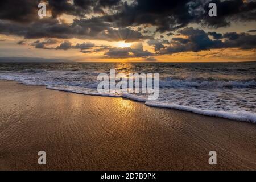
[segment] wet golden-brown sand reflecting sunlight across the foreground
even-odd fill
[[[256,169],[253,123],[14,81],[0,90],[1,170]]]

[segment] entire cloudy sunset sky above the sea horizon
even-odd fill
[[[208,15],[212,2],[216,17]],[[0,1],[0,57],[256,61],[256,1]]]

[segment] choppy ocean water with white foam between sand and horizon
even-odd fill
[[[251,63],[0,63],[0,79],[98,95],[100,73],[159,73],[159,98],[112,94],[148,106],[256,123],[256,62]]]

